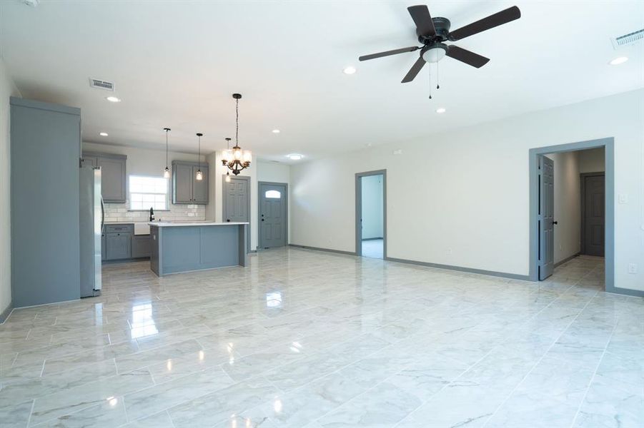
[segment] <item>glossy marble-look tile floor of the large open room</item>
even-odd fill
[[[644,426],[644,299],[299,249],[0,326],[1,427]]]

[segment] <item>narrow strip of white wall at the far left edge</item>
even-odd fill
[[[11,143],[9,96],[20,96],[0,58],[0,314],[11,305]]]

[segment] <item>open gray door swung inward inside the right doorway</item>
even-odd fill
[[[555,163],[539,158],[539,280],[555,270]]]

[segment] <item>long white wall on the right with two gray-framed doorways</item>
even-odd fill
[[[609,136],[615,287],[644,290],[642,89],[292,165],[291,241],[355,251],[355,173],[386,169],[387,255],[527,275],[529,149]]]

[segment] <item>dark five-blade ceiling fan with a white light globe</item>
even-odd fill
[[[465,37],[493,29],[495,26],[507,24],[508,22],[521,17],[521,11],[519,8],[517,6],[512,6],[503,11],[497,12],[496,14],[487,16],[487,18],[472,22],[472,24],[461,27],[460,29],[450,31],[450,20],[440,17],[432,18],[430,10],[427,9],[427,6],[424,4],[410,6],[407,10],[416,24],[416,34],[418,35],[418,41],[422,43],[422,46],[410,46],[409,48],[394,49],[393,51],[364,55],[359,58],[360,61],[367,61],[369,59],[380,58],[382,56],[404,54],[405,52],[413,52],[420,49],[420,58],[416,60],[405,78],[402,79],[401,83],[407,83],[414,80],[420,72],[420,69],[425,66],[425,63],[437,63],[446,55],[469,64],[472,67],[480,68],[485,66],[487,61],[490,61],[490,58],[485,58],[485,56],[475,54],[474,52],[467,51],[467,49],[462,49],[455,45],[447,45],[445,44],[445,41],[465,39]]]

